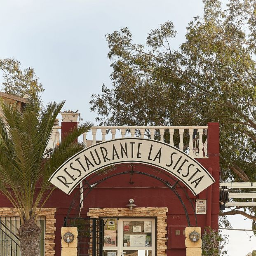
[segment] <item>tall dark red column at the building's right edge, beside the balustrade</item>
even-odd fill
[[[219,214],[219,177],[220,177],[220,146],[219,146],[219,124],[208,123],[208,156],[209,167],[212,169],[212,176],[215,182],[211,188],[211,228],[218,230],[218,214]],[[207,190],[207,193],[210,193]],[[208,197],[208,195],[207,195]]]

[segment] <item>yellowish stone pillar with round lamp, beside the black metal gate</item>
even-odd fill
[[[71,243],[66,243],[63,240],[63,236],[68,232],[74,235],[74,240]],[[61,256],[77,256],[77,255],[78,255],[78,228],[62,227],[61,228]]]

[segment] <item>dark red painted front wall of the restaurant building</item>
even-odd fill
[[[70,127],[74,127],[75,123],[62,123],[62,132],[68,131]],[[63,126],[64,125],[64,126]],[[64,130],[63,130],[64,128]],[[211,224],[211,227],[218,229],[218,213],[219,213],[219,125],[218,123],[208,124],[208,155],[209,158],[197,159],[208,171],[212,171],[212,175],[216,180],[211,188],[207,188],[198,195],[198,199],[207,199],[207,202],[211,201],[211,204],[207,204],[207,215],[197,215],[197,225],[204,227]],[[122,172],[130,170],[129,166],[116,166],[117,169],[114,172]],[[211,168],[211,169],[209,169]],[[164,174],[154,171],[148,166],[136,166],[134,170],[143,171],[155,176],[167,178]],[[98,176],[92,178],[90,184],[93,181],[98,181],[104,176]],[[166,188],[160,181],[134,174],[132,181],[134,184],[130,184],[131,176],[129,174],[116,176],[110,178],[98,186],[93,188],[92,192],[86,197],[84,202],[84,208],[82,209],[81,216],[87,216],[87,212],[91,207],[113,207],[120,208],[126,207],[129,198],[134,199],[134,203],[137,207],[168,207],[167,213],[167,256],[185,256],[185,235],[183,230],[188,226],[186,215],[182,207],[181,202],[170,188]],[[171,182],[171,180],[169,180]],[[173,184],[174,182],[172,182]],[[188,193],[193,200],[195,207],[196,197],[192,195],[190,190],[183,185],[184,190]],[[78,188],[70,195],[66,195],[61,190],[56,189],[52,196],[49,198],[45,207],[56,207],[56,256],[61,256],[61,227],[63,225],[64,218],[66,217],[68,208],[73,196]],[[196,225],[195,215],[193,209],[189,204],[186,197],[186,193],[181,188],[177,188],[179,195],[185,203],[188,214],[190,216],[191,225]],[[1,207],[12,207],[10,203],[2,196],[0,196]],[[77,214],[78,210],[73,209],[73,214]],[[181,235],[175,235],[175,230],[181,230]]]

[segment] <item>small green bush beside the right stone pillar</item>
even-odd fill
[[[228,251],[224,250],[227,241],[227,235],[222,235],[210,227],[206,227],[202,235],[202,256],[228,255]]]

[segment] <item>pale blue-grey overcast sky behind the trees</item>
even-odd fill
[[[200,0],[0,0],[0,58],[21,61],[35,69],[45,88],[45,102],[66,99],[64,110],[89,110],[92,94],[111,86],[106,33],[128,27],[134,42],[145,43],[150,29],[172,21],[178,32],[172,47],[184,41],[186,26],[203,14]],[[233,228],[251,228],[244,217],[230,217]],[[229,231],[229,256],[245,256],[256,239]],[[247,232],[251,235],[252,232]]]

